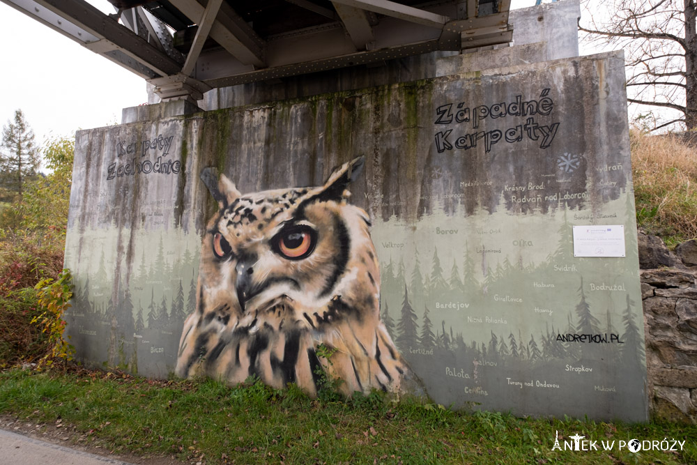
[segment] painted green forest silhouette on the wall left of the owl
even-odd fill
[[[72,340],[80,340],[78,358],[89,355],[131,372],[155,364],[167,376],[165,367],[176,363],[184,320],[196,305],[198,270],[188,249],[173,258],[169,263],[160,237],[155,261],[148,266],[144,249],[126,282],[109,277],[102,252],[98,270],[75,286],[68,312],[79,318],[70,327]]]

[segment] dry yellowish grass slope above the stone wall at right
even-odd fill
[[[697,147],[675,135],[632,130],[638,226],[668,245],[697,237]]]

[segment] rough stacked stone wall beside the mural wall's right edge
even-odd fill
[[[697,240],[638,242],[651,416],[697,423]]]

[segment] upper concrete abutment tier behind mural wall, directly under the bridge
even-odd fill
[[[274,100],[316,96],[321,93],[417,81],[447,74],[570,58],[579,55],[580,16],[579,0],[562,0],[512,10],[512,45],[516,47],[499,47],[484,53],[433,52],[388,60],[374,66],[355,66],[286,77],[273,83],[254,82],[223,87],[206,92],[204,100],[199,101],[199,107],[204,110],[240,107]],[[526,47],[519,47],[521,45]],[[148,102],[159,102],[159,98],[152,93],[148,95]],[[130,121],[132,119],[125,119],[122,123]]]

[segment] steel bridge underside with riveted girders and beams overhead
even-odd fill
[[[510,0],[0,0],[144,77],[163,100],[512,40]]]

